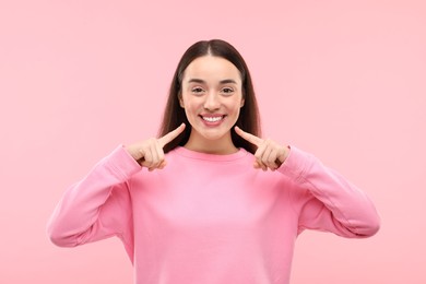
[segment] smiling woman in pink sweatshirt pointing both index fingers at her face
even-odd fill
[[[139,284],[286,284],[306,228],[362,238],[379,217],[316,157],[260,138],[249,70],[215,39],[184,54],[159,138],[100,161],[66,192],[48,233],[66,247],[119,237]]]

